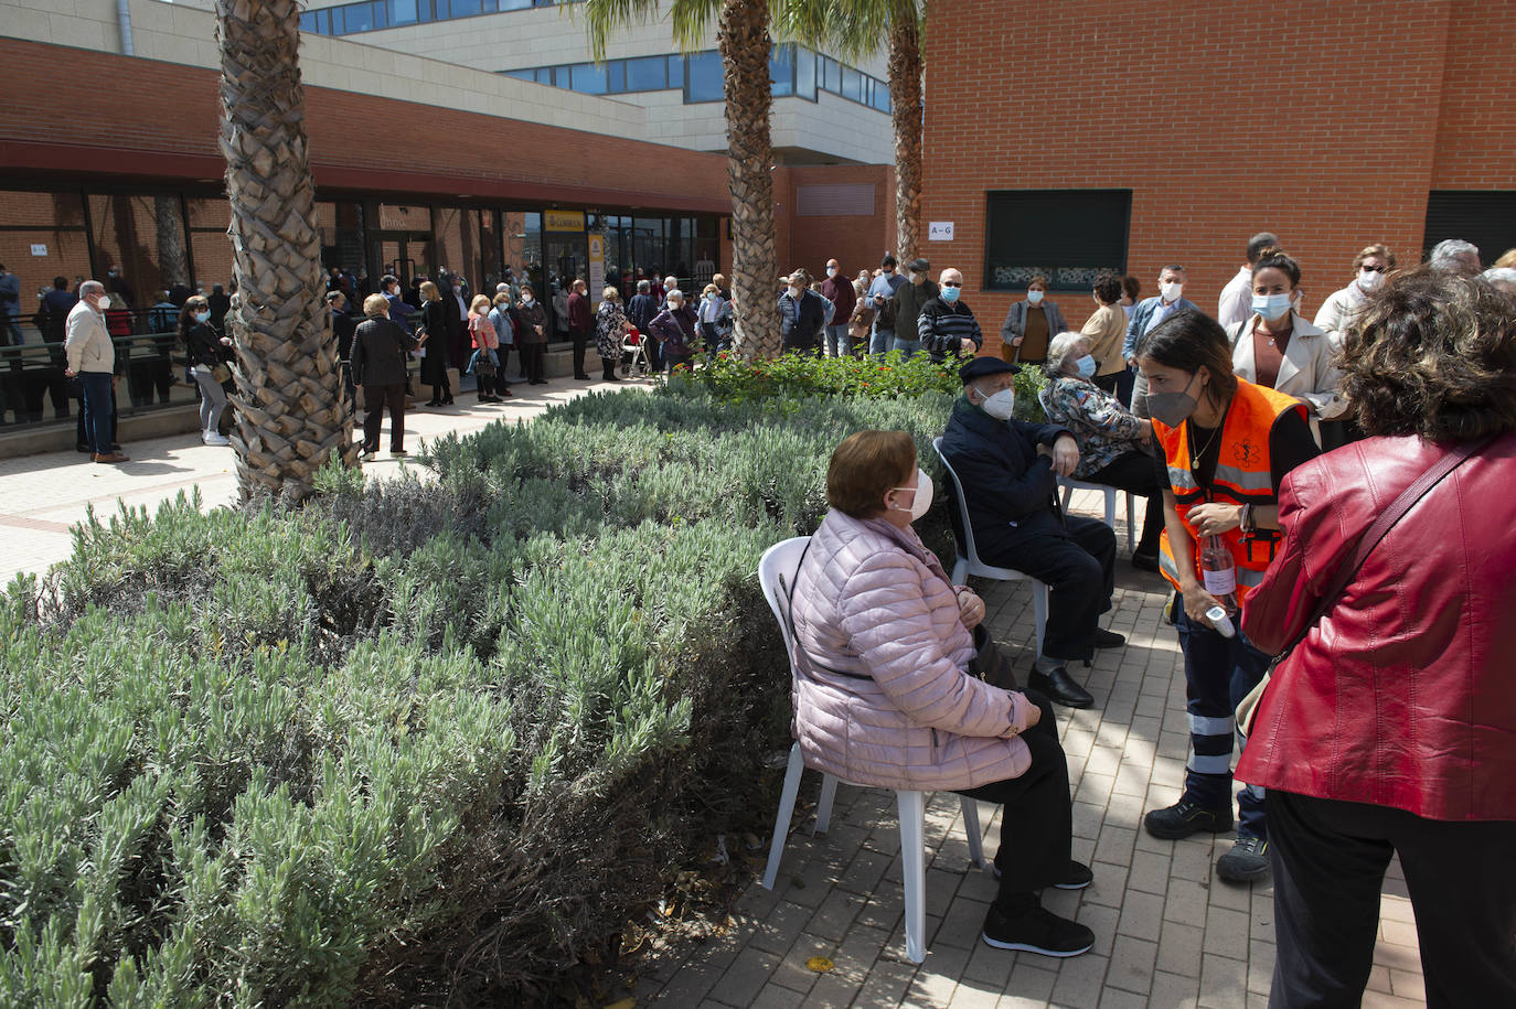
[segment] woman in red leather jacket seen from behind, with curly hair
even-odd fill
[[[1516,301],[1419,270],[1346,338],[1372,435],[1295,470],[1243,627],[1278,651],[1381,511],[1495,439],[1390,527],[1275,670],[1237,777],[1269,791],[1270,1006],[1357,1006],[1399,853],[1430,1006],[1516,1006]]]

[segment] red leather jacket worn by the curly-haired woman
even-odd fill
[[[1243,608],[1269,653],[1442,455],[1369,438],[1292,471],[1284,545]],[[1237,777],[1431,820],[1516,820],[1516,432],[1434,486],[1273,671]]]

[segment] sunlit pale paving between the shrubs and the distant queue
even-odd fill
[[[405,447],[420,448],[428,438],[447,432],[479,430],[496,420],[532,418],[553,403],[565,403],[590,389],[625,386],[646,388],[647,382],[632,380],[575,382],[553,379],[544,386],[512,385],[512,397],[499,405],[481,405],[473,392],[458,394],[455,406],[420,408],[405,417]],[[361,420],[361,415],[359,415]],[[390,424],[381,444],[390,445]],[[80,521],[91,506],[97,515],[114,512],[120,503],[133,508],[155,508],[180,491],[200,488],[206,508],[236,500],[236,471],[230,448],[200,444],[197,435],[173,435],[123,445],[130,462],[108,467],[89,462],[76,451],[53,451],[20,459],[0,459],[0,536],[6,544],[0,554],[0,585],[20,571],[42,573],[73,550],[70,527]],[[397,473],[400,462],[381,453],[364,470],[374,474]]]

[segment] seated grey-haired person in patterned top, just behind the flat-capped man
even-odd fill
[[[1067,427],[1079,442],[1075,480],[1102,483],[1148,498],[1142,539],[1132,567],[1158,570],[1158,535],[1163,533],[1163,486],[1152,465],[1152,421],[1132,415],[1120,400],[1093,383],[1099,364],[1084,333],[1058,333],[1048,345],[1048,423]],[[1134,517],[1128,515],[1128,521]]]

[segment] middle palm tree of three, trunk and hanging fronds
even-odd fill
[[[567,0],[565,0],[567,3]],[[590,53],[600,62],[612,33],[632,21],[647,21],[661,0],[585,0],[581,8]],[[673,0],[673,39],[691,50],[717,18],[717,45],[726,67],[726,176],[732,194],[732,345],[746,358],[776,358],[781,350],[779,312],[773,297],[779,267],[773,232],[773,145],[769,111],[767,0]]]

